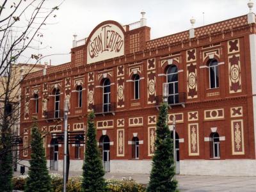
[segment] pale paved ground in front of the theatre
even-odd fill
[[[51,172],[62,175],[62,172]],[[15,175],[19,173],[16,172]],[[70,172],[69,177],[82,175],[82,172]],[[148,184],[148,174],[106,173],[106,179],[133,179],[140,184]],[[256,192],[256,177],[223,177],[223,176],[197,176],[177,175],[178,189],[193,192]]]

